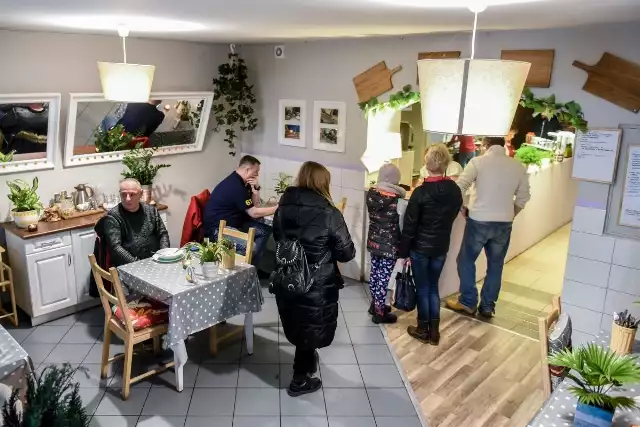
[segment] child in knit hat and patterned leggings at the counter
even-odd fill
[[[400,169],[386,164],[378,172],[378,183],[367,193],[369,235],[367,250],[371,254],[369,287],[373,309],[369,310],[374,323],[395,323],[397,317],[386,305],[387,285],[398,258],[400,217],[406,191],[400,183]],[[400,206],[400,210],[398,207]]]

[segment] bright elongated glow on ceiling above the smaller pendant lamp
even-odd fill
[[[133,15],[49,15],[38,19],[41,23],[81,30],[113,31],[125,25],[132,32],[188,32],[204,30],[207,26],[198,22]]]

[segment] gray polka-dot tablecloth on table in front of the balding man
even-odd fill
[[[255,267],[220,268],[213,279],[205,279],[199,265],[195,269],[195,283],[190,283],[181,263],[145,259],[118,267],[120,279],[131,291],[169,306],[170,347],[223,320],[262,310],[264,299]]]

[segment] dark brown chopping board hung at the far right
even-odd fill
[[[605,52],[597,64],[590,66],[573,61],[588,78],[582,90],[637,113],[640,110],[640,66]]]

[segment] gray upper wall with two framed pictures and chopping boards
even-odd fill
[[[502,49],[555,49],[555,63],[549,89],[562,102],[579,102],[592,126],[637,123],[638,116],[581,90],[586,73],[571,64],[598,61],[608,51],[640,62],[640,25],[615,24],[583,28],[484,32],[477,37],[476,57],[499,58]],[[295,42],[285,45],[285,58],[275,59],[272,45],[245,48],[247,64],[255,78],[259,115],[258,132],[243,146],[244,151],[293,160],[315,159],[332,166],[362,168],[359,159],[366,146],[366,123],[357,106],[352,79],[379,61],[389,68],[402,65],[393,77],[395,90],[416,87],[418,52],[460,50],[470,54],[470,34],[441,34],[413,37],[385,37],[349,40]],[[307,101],[307,148],[278,144],[278,100]],[[381,97],[386,99],[386,95]],[[347,103],[347,149],[345,154],[314,151],[312,145],[313,101]]]

